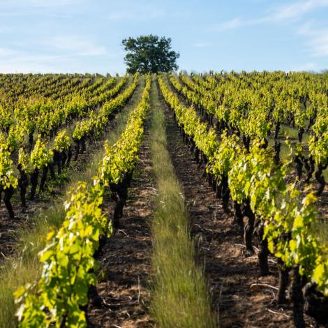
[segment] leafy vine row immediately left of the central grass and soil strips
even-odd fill
[[[40,252],[41,278],[15,292],[20,327],[87,327],[85,314],[88,292],[96,285],[94,254],[102,235],[110,237],[112,223],[102,214],[106,188],[117,187],[131,177],[149,110],[150,75],[142,100],[131,112],[124,133],[112,146],[105,144],[94,185],[80,182],[65,203],[66,217],[56,234],[47,235],[47,246]]]

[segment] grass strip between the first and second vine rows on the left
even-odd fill
[[[128,114],[136,106],[141,98],[144,78],[133,95],[131,101],[123,111],[119,112],[115,118],[115,126],[105,137],[110,144],[113,144],[121,132],[124,131]],[[70,183],[66,186],[66,192],[74,189],[78,181],[91,183],[92,177],[96,175],[103,149],[97,151],[86,165],[84,171],[75,171],[70,174]],[[13,292],[26,283],[32,283],[40,276],[40,262],[38,253],[45,247],[45,237],[48,232],[57,230],[64,220],[64,199],[57,200],[47,209],[38,211],[33,218],[29,229],[18,232],[19,243],[15,255],[5,260],[1,264],[0,271],[0,328],[17,327]]]

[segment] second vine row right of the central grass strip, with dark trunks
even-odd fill
[[[181,85],[177,78],[170,77],[174,89],[186,97],[188,102],[199,109],[202,114],[206,114],[209,123],[213,124],[213,118],[216,117],[216,130],[218,133],[227,128],[237,135],[242,135],[246,149],[249,149],[249,144],[253,138],[258,137],[267,143],[271,135],[274,135],[274,160],[276,163],[280,161],[281,142],[277,139],[280,126],[283,123],[287,124],[287,117],[292,114],[294,121],[299,124],[299,142],[296,145],[297,151],[293,153],[297,177],[299,180],[301,179],[303,167],[305,167],[305,182],[308,184],[313,172],[315,172],[315,179],[320,184],[316,194],[321,195],[326,184],[322,172],[328,166],[328,130],[325,123],[327,120],[328,97],[325,96],[323,91],[321,91],[321,94],[313,94],[305,102],[304,100],[301,101],[303,98],[295,99],[296,102],[299,102],[299,105],[291,107],[287,100],[281,100],[278,95],[271,99],[271,94],[265,94],[262,89],[255,89],[252,90],[253,98],[243,98],[244,105],[240,103],[234,105],[233,101],[236,100],[232,101],[232,96],[237,98],[237,94],[243,94],[242,91],[237,91],[236,87],[234,87],[236,90],[233,93],[227,95],[223,92],[221,95],[216,94],[217,98],[214,98],[214,95],[211,95],[208,89],[199,87],[186,75],[180,75],[180,78],[186,86]],[[194,75],[193,78],[199,83],[202,81],[197,75]],[[207,103],[207,98],[211,98],[209,103]],[[292,97],[290,98],[292,99]],[[218,99],[223,99],[222,105],[219,105]],[[259,99],[261,100],[259,101]],[[311,134],[308,137],[308,144],[302,144],[306,120],[309,121],[308,131]],[[271,131],[273,126],[275,126],[274,131]]]

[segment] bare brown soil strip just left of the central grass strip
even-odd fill
[[[156,193],[149,149],[149,119],[140,147],[128,202],[120,219],[121,230],[115,232],[100,257],[103,279],[98,294],[106,306],[89,306],[90,327],[152,327],[147,314],[151,271],[151,200]],[[107,204],[112,204],[107,200]],[[113,208],[107,209],[112,216]]]

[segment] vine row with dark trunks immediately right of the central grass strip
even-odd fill
[[[163,98],[172,108],[184,140],[191,145],[196,160],[199,161],[202,155],[209,184],[222,197],[223,206],[227,207],[229,198],[232,198],[249,253],[253,253],[252,235],[257,225],[261,274],[269,273],[267,256],[270,251],[278,258],[283,274],[292,269],[295,277],[304,276],[327,297],[327,246],[320,244],[311,232],[311,223],[317,215],[315,195],[308,193],[299,202],[300,193],[295,184],[286,182],[290,162],[276,165],[273,151],[260,138],[253,140],[248,151],[241,147],[236,134],[228,135],[223,131],[218,138],[214,128],[208,129],[207,124],[200,121],[193,107],[181,105],[163,77],[159,77],[158,82]],[[244,216],[248,218],[245,226]],[[303,297],[301,287],[300,279],[294,278],[292,301],[295,320],[303,320],[303,308],[297,306]],[[281,303],[285,301],[285,288],[281,285],[278,292]]]

